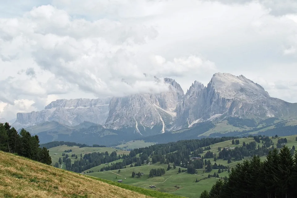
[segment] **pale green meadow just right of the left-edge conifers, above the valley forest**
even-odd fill
[[[72,149],[71,153],[65,153],[68,154],[69,158],[71,159],[71,162],[73,163],[75,160],[79,160],[80,158],[80,153],[82,153],[82,155],[84,156],[85,153],[93,153],[93,152],[105,152],[107,151],[108,154],[110,154],[113,150],[118,150],[117,154],[121,155],[121,154],[129,154],[129,151],[123,151],[123,150],[119,150],[119,149],[113,149],[110,147],[83,147],[83,148],[79,148],[78,146],[67,146],[67,145],[62,145],[62,146],[57,146],[57,147],[53,147],[49,149],[49,155],[52,158],[52,165],[54,165],[56,162],[59,161],[59,157],[62,157],[62,153],[64,153],[65,150],[69,150]],[[95,149],[95,150],[94,150]],[[98,150],[97,150],[98,149]],[[55,155],[54,153],[57,153],[58,155]],[[75,157],[71,157],[71,154],[76,154],[78,159],[75,159]],[[61,167],[61,165],[59,164],[59,167]],[[63,169],[65,169],[65,165],[63,166]]]

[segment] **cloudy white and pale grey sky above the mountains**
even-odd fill
[[[295,0],[2,0],[0,119],[244,75],[297,102]],[[145,75],[144,75],[145,74]]]

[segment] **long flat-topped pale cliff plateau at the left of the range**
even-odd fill
[[[75,126],[84,121],[104,124],[108,117],[109,103],[110,98],[56,100],[44,110],[18,113],[12,126],[19,129],[46,121],[57,121],[68,126]]]

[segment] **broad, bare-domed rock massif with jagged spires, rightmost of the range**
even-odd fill
[[[272,98],[259,84],[226,73],[216,73],[207,85],[195,81],[176,108],[174,127],[192,127],[206,120],[228,116],[245,118],[290,117],[297,104]]]

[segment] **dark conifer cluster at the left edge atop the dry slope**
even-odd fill
[[[39,148],[39,138],[22,129],[18,133],[8,123],[0,123],[0,150],[28,157],[35,161],[50,165],[52,163],[49,151]]]

